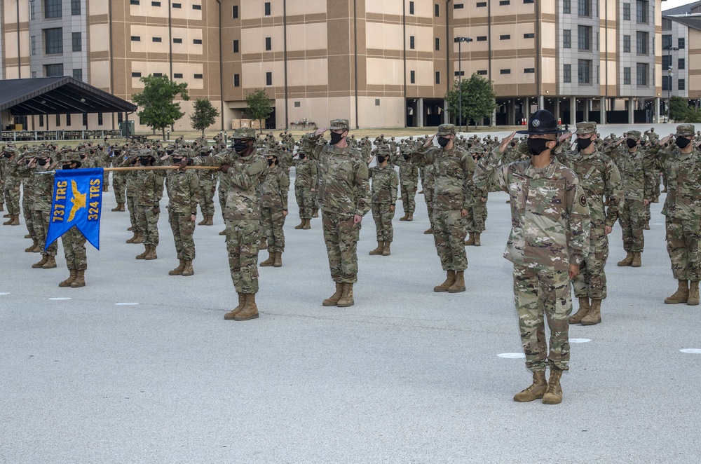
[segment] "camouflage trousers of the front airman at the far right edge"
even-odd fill
[[[667,253],[676,280],[701,280],[701,223],[667,217]]]

